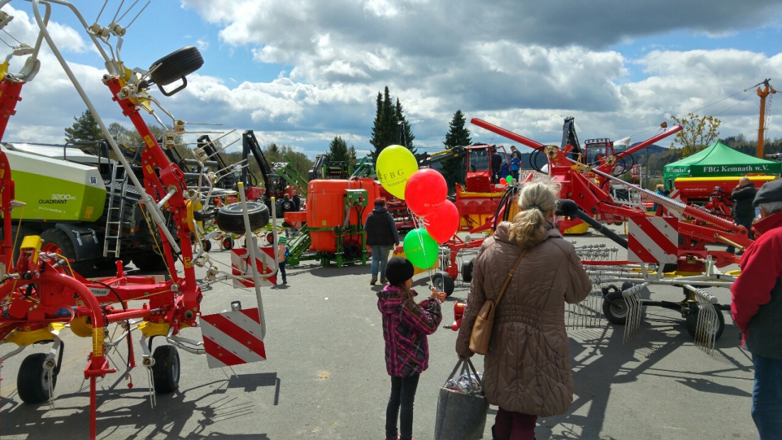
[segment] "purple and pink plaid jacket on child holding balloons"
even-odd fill
[[[415,291],[413,291],[415,294]],[[378,292],[386,340],[386,370],[394,377],[421,374],[429,367],[427,334],[437,331],[443,314],[439,302],[425,299],[416,304],[404,290],[386,286]]]

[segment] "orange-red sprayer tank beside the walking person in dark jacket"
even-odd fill
[[[368,206],[346,210],[346,194],[349,189],[364,189],[367,191]],[[364,177],[357,179],[313,180],[307,189],[307,228],[310,231],[310,250],[317,252],[335,252],[337,238],[335,227],[346,226],[346,216],[349,224],[364,225],[364,220],[371,213],[373,202],[380,196],[380,184],[374,179]],[[361,213],[361,219],[359,219]],[[360,242],[360,241],[359,241]]]

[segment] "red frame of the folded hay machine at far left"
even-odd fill
[[[0,5],[6,3],[7,1],[0,2]],[[111,23],[109,26],[111,30],[89,27],[74,6],[62,0],[42,2],[45,6],[46,18],[41,19],[39,3],[41,3],[40,0],[33,0],[34,15],[41,28],[41,34],[34,55],[30,59],[33,59],[34,63],[38,63],[34,56],[37,55],[41,38],[45,38],[52,48],[52,52],[55,52],[60,63],[63,64],[63,69],[73,80],[74,86],[80,91],[91,112],[95,114],[91,102],[84,95],[81,86],[73,77],[70,68],[59,55],[56,45],[46,31],[50,3],[69,7],[88,30],[100,52],[102,49],[97,44],[98,41],[100,39],[106,41],[105,38],[109,37],[109,33],[121,38],[124,34],[124,28],[117,23]],[[106,59],[108,60],[108,58]],[[122,66],[121,62],[118,63],[113,59],[111,61],[114,66]],[[107,63],[107,67],[109,67],[109,71],[112,70],[109,63]],[[16,113],[16,102],[21,100],[20,90],[23,84],[26,80],[34,77],[34,73],[32,72],[29,78],[24,80],[14,78],[13,75],[6,75],[0,81],[0,139],[5,133],[9,116]],[[182,79],[184,80],[184,75]],[[143,320],[143,324],[140,324],[138,328],[143,334],[142,349],[145,352],[143,356],[145,367],[152,367],[155,363],[152,356],[149,356],[152,343],[149,342],[149,347],[144,345],[145,338],[163,336],[168,342],[181,349],[199,354],[204,352],[203,348],[195,348],[182,343],[191,343],[197,346],[198,342],[185,338],[177,339],[177,335],[182,329],[198,327],[197,317],[201,314],[200,303],[203,299],[193,267],[192,214],[188,216],[188,211],[192,212],[189,200],[192,197],[188,197],[188,195],[192,194],[188,192],[185,175],[170,162],[139,114],[140,97],[149,96],[145,94],[145,91],[149,88],[150,83],[138,80],[135,73],[124,70],[124,67],[118,69],[116,73],[104,75],[103,82],[109,88],[112,99],[120,106],[124,116],[131,120],[145,141],[142,153],[145,192],[154,199],[153,203],[156,206],[167,213],[168,223],[176,228],[178,243],[171,242],[167,238],[170,237],[166,227],[167,220],[150,213],[160,230],[161,256],[166,261],[167,274],[170,277],[168,281],[163,281],[162,277],[156,276],[128,276],[124,273],[120,261],[117,262],[115,276],[87,280],[71,270],[67,259],[63,256],[57,253],[41,252],[41,239],[32,236],[25,238],[20,248],[19,257],[16,261],[12,261],[14,238],[11,234],[10,213],[15,205],[13,200],[14,185],[8,159],[5,153],[0,150],[0,185],[2,185],[0,187],[2,189],[0,213],[2,213],[3,225],[0,263],[5,268],[5,273],[2,274],[3,278],[0,280],[0,306],[2,306],[3,312],[0,314],[0,341],[16,342],[17,345],[20,345],[19,349],[9,353],[5,358],[13,356],[27,345],[37,342],[56,342],[59,351],[61,349],[59,338],[56,332],[52,331],[50,327],[52,324],[68,324],[74,320],[82,320],[88,327],[91,327],[92,349],[88,355],[87,366],[84,368],[84,379],[90,382],[91,438],[95,438],[96,435],[95,380],[97,377],[105,377],[106,374],[117,372],[117,368],[110,366],[109,360],[106,358],[104,327],[111,323],[131,319]],[[95,119],[99,121],[103,134],[110,138],[106,127],[97,114],[95,114]],[[113,140],[110,142],[117,150],[116,145],[113,145]],[[174,253],[178,250],[181,252],[179,255],[182,263],[181,276],[176,268],[178,258]],[[131,301],[143,301],[143,304],[141,307],[131,307]],[[128,370],[136,367],[130,330],[128,329],[127,334],[123,336],[127,338],[128,358],[125,367]],[[45,363],[44,368],[59,371],[59,366],[56,366],[54,361]],[[132,386],[132,382],[128,384],[128,387]]]

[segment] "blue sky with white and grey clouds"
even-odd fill
[[[75,3],[88,24],[102,4]],[[119,5],[109,0],[99,23],[108,25]],[[15,38],[32,45],[30,4],[14,0],[4,10],[15,19],[0,47],[9,53]],[[49,28],[106,122],[129,127],[79,22],[55,5]],[[264,145],[310,157],[335,136],[368,152],[375,98],[386,85],[415,145],[429,151],[442,149],[457,109],[557,145],[565,116],[575,116],[581,141],[641,141],[671,115],[690,112],[719,117],[722,137],[755,139],[753,86],[770,78],[782,91],[782,0],[152,0],[120,54],[127,66],[148,69],[187,45],[199,48],[204,66],[174,97],[152,92],[170,113],[221,124],[192,131],[235,129],[228,138],[239,138],[252,129]],[[4,141],[62,142],[86,108],[56,60],[40,58]],[[10,70],[23,61],[13,58]],[[767,138],[782,137],[780,113],[772,99]],[[468,128],[473,141],[512,143]]]

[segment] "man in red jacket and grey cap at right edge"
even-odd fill
[[[752,353],[752,420],[765,440],[782,435],[782,179],[764,184],[753,206],[759,238],[741,257],[730,316]]]

